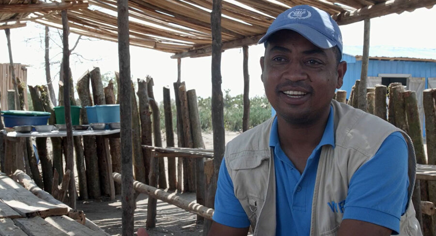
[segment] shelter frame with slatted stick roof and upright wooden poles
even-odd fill
[[[68,24],[71,32],[119,42],[120,95],[123,98],[121,137],[125,140],[121,142],[124,173],[123,235],[133,235],[132,149],[129,144],[131,123],[128,119],[131,105],[129,90],[123,89],[130,84],[128,46],[173,53],[171,58],[178,59],[179,75],[181,58],[212,55],[212,100],[216,101],[212,103],[212,110],[215,110],[213,130],[216,178],[219,168],[217,164],[224,152],[221,52],[256,44],[274,18],[296,4],[309,4],[323,9],[339,25],[344,25],[361,20],[368,20],[369,23],[373,17],[413,11],[420,7],[431,8],[436,0],[77,0],[51,3],[11,0],[0,3],[0,29],[23,27],[23,22],[26,21],[58,29],[66,29]],[[366,30],[369,31],[369,27]],[[64,44],[68,45],[67,40]],[[369,46],[369,40],[365,41],[365,46]],[[367,62],[368,56],[365,53],[363,55],[362,61]],[[65,97],[69,96],[68,93],[66,90]],[[71,121],[67,123],[69,122]],[[71,125],[68,128],[71,132]]]

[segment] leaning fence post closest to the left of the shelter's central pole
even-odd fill
[[[187,100],[189,107],[189,120],[191,122],[192,141],[194,148],[204,148],[204,142],[202,138],[202,126],[200,124],[200,115],[198,113],[197,94],[195,90],[191,89],[187,91]],[[195,158],[195,192],[197,197],[197,203],[204,205],[204,157]],[[202,223],[204,219],[197,215],[197,223]]]

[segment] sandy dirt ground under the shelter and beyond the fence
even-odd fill
[[[238,134],[238,132],[226,132],[226,142],[229,142]],[[203,142],[207,149],[212,149],[212,133],[203,133]],[[180,196],[191,202],[196,201],[195,193],[182,193]],[[107,199],[78,201],[77,209],[83,210],[88,219],[92,220],[108,234],[121,236],[122,209],[120,197],[121,195],[117,195],[115,201],[109,201]],[[147,202],[148,196],[146,194],[140,194],[138,196],[137,208],[134,213],[135,231],[138,230],[139,227],[145,228]],[[196,220],[197,215],[158,200],[156,228],[148,229],[148,233],[150,236],[201,236],[203,225],[196,224]]]

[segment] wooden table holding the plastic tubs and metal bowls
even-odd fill
[[[110,157],[109,151],[109,138],[117,138],[120,135],[120,129],[112,129],[112,130],[73,130],[73,136],[85,136],[85,135],[94,135],[94,136],[103,136],[104,144],[105,144],[105,160],[107,173],[109,173],[108,181],[109,181],[109,195],[110,199],[115,199],[115,186],[112,178],[112,159]],[[5,135],[5,164],[4,164],[4,172],[7,174],[11,174],[15,172],[16,169],[24,170],[24,163],[21,158],[23,157],[23,151],[26,150],[25,147],[25,138],[35,137],[35,138],[49,138],[49,137],[66,137],[66,131],[53,130],[51,132],[30,132],[30,133],[17,133],[17,132],[8,132]]]

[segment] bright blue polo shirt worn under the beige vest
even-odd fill
[[[333,112],[327,120],[323,137],[308,158],[303,173],[280,147],[277,118],[270,132],[270,146],[274,150],[276,174],[277,236],[309,236],[311,204],[321,148],[335,147]],[[392,159],[395,158],[395,161]],[[222,161],[218,175],[213,220],[230,227],[249,227],[249,219],[234,196],[234,187]],[[386,173],[390,173],[389,175]],[[373,158],[354,173],[347,198],[341,202],[326,203],[333,211],[343,212],[343,219],[371,222],[400,230],[400,217],[407,204],[407,145],[399,132],[392,133],[383,142]],[[338,205],[339,207],[338,209]]]

